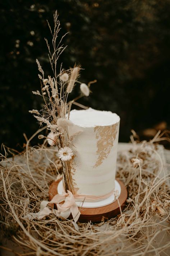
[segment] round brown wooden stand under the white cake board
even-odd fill
[[[58,181],[53,181],[51,183],[50,188],[49,188],[50,201],[56,194],[58,194],[58,184],[60,181],[61,181],[61,179],[59,179]],[[127,192],[127,189],[124,186],[123,182],[121,182],[119,179],[116,179],[116,181],[119,182],[119,185],[121,187],[121,193],[118,198],[119,203],[118,203],[118,200],[116,200],[115,202],[113,202],[109,205],[105,205],[103,207],[79,208],[81,211],[81,215],[78,219],[79,222],[88,222],[88,221],[101,222],[101,221],[109,220],[110,218],[113,218],[120,213],[120,207],[121,207],[121,210],[123,210],[125,208],[128,192]],[[119,204],[120,204],[120,207],[119,207]],[[56,205],[54,208],[56,208]],[[72,217],[72,216],[70,216],[70,217]]]

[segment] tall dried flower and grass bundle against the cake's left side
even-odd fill
[[[72,135],[72,138],[69,138],[68,126],[73,125],[73,123],[69,121],[70,109],[76,100],[82,96],[89,96],[90,84],[96,82],[96,80],[89,82],[88,85],[77,81],[79,72],[81,70],[80,65],[75,65],[74,68],[68,70],[64,70],[61,66],[58,73],[57,61],[60,54],[65,49],[63,44],[61,44],[61,41],[65,35],[58,42],[57,39],[60,31],[60,22],[58,20],[57,12],[54,14],[54,31],[52,31],[49,23],[48,25],[52,35],[52,49],[48,40],[45,40],[49,51],[49,60],[53,77],[49,76],[48,78],[45,78],[45,74],[40,62],[36,60],[38,70],[41,73],[38,74],[41,81],[41,92],[33,91],[33,94],[42,96],[45,105],[41,111],[33,109],[29,112],[34,114],[34,117],[38,120],[40,125],[45,123],[47,125],[47,129],[50,130],[49,134],[47,135],[47,142],[50,144],[50,146],[58,147],[59,157],[63,165],[65,191],[69,190],[74,193],[70,170],[70,164],[74,155],[72,149],[69,147],[69,143],[71,140],[73,140],[73,137],[76,136],[77,133]],[[81,95],[67,102],[68,95],[73,91],[76,83],[80,83]],[[44,136],[39,135],[39,138],[44,138]]]

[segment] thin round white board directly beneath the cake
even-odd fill
[[[58,184],[58,194],[63,194],[64,188],[63,188],[63,181],[61,180]],[[116,191],[116,198],[115,198],[115,192],[109,198],[102,199],[97,202],[83,202],[84,199],[81,199],[79,201],[76,201],[75,203],[77,204],[78,207],[83,207],[83,208],[98,208],[98,207],[103,207],[105,205],[109,205],[116,201],[121,193],[121,187],[118,181],[115,180],[115,191]]]

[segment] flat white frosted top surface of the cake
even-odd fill
[[[92,108],[70,111],[70,121],[82,127],[108,126],[118,123],[120,117],[111,111],[101,111]]]

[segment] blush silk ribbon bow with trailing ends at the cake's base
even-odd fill
[[[64,201],[64,204],[59,204],[62,201]],[[49,207],[47,207],[47,204],[53,204],[52,210]],[[54,209],[54,204],[57,205],[57,210]],[[67,193],[63,192],[62,195],[55,195],[50,202],[42,201],[40,204],[39,212],[28,213],[25,217],[28,218],[29,220],[32,220],[34,218],[42,219],[43,217],[51,213],[54,213],[57,217],[64,219],[68,218],[70,216],[70,213],[72,213],[74,222],[76,223],[80,216],[80,211],[75,203],[75,199],[72,192],[67,190]]]

